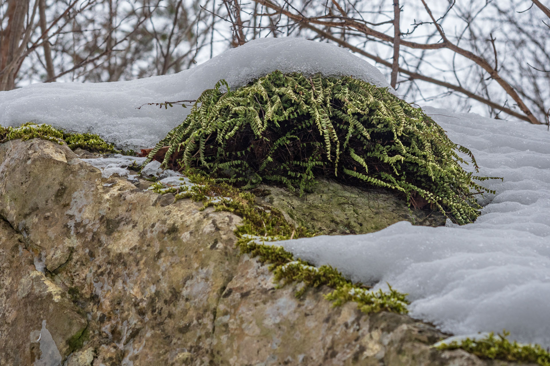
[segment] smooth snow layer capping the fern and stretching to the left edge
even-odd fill
[[[136,109],[140,105],[194,100],[222,78],[238,87],[276,69],[305,75],[352,75],[389,87],[375,66],[333,44],[259,38],[174,75],[105,83],[43,83],[0,92],[0,125],[36,121],[97,133],[125,148],[152,147],[185,119],[190,108],[144,105]]]

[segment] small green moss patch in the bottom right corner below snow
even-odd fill
[[[461,348],[480,358],[499,359],[509,362],[537,363],[541,366],[550,366],[550,353],[540,345],[520,345],[508,340],[509,332],[503,331],[497,336],[490,333],[482,339],[466,338],[460,342],[437,346],[438,350],[456,350]]]

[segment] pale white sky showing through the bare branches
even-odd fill
[[[278,1],[279,4],[283,4],[281,0]],[[350,1],[351,0],[341,0],[339,3],[341,3],[346,10],[350,10]],[[48,4],[52,4],[50,9],[52,14],[61,12],[65,6],[65,2],[67,2],[67,0],[48,2]],[[90,2],[93,3],[92,0],[83,0],[79,3],[79,5],[77,5],[77,7],[83,7]],[[115,20],[115,24],[120,24],[120,37],[124,31],[130,31],[135,25],[135,20],[133,20],[133,18],[124,18],[125,13],[132,8],[137,9],[139,12],[141,2],[138,3],[135,0],[116,0],[113,3],[116,4],[119,9],[119,15]],[[328,3],[330,4],[330,2]],[[428,0],[427,3],[436,18],[443,15],[449,6],[448,1],[441,0]],[[166,10],[167,4],[167,0],[162,0],[160,2],[161,9]],[[190,12],[193,11],[193,2],[185,1],[184,4],[186,4],[185,6]],[[252,12],[254,9],[254,4],[255,3],[251,1],[241,1],[244,21],[247,20],[245,13]],[[306,2],[304,2],[304,0],[292,0],[290,1],[290,4],[297,9],[305,9],[305,15],[312,16],[324,13],[324,2],[321,1],[307,2],[305,7],[304,4],[306,4]],[[536,42],[542,46],[541,48],[546,47],[547,49],[550,49],[550,37],[547,37],[549,29],[542,22],[545,19],[544,14],[536,7],[529,9],[531,4],[532,3],[530,0],[458,0],[441,24],[451,41],[459,43],[461,47],[471,49],[474,53],[484,55],[486,59],[489,60],[489,63],[494,64],[493,49],[491,42],[488,41],[489,34],[492,34],[493,37],[496,38],[495,44],[498,55],[498,67],[501,76],[508,82],[521,85],[526,89],[537,87],[542,95],[542,98],[540,99],[544,101],[550,100],[550,79],[548,78],[547,73],[533,70],[527,66],[527,63],[530,63],[536,67],[538,66],[540,69],[550,69],[550,58],[548,55],[542,54],[540,50],[536,49]],[[199,21],[195,22],[191,29],[195,33],[201,33],[202,31],[206,32],[199,37],[200,40],[197,42],[180,43],[177,52],[175,52],[177,54],[184,54],[191,51],[189,55],[189,67],[194,67],[197,64],[209,59],[211,55],[215,56],[231,47],[227,41],[228,38],[231,38],[232,34],[231,24],[229,22],[216,17],[215,19],[217,20],[217,23],[213,35],[210,31],[213,16],[209,12],[212,9],[212,5],[215,5],[216,13],[223,17],[226,16],[226,9],[223,3],[219,0],[201,0],[199,1],[199,5],[202,5],[204,9],[208,9],[208,11],[195,6],[195,9],[199,14]],[[401,0],[401,5],[403,6],[403,12],[401,12],[401,32],[412,30],[415,21],[430,21],[420,0]],[[513,19],[516,21],[525,23],[524,35],[516,35],[517,32],[512,29],[508,22],[504,21],[506,15],[498,14],[496,8],[497,6],[503,10],[513,9],[510,10],[508,14],[511,14]],[[360,7],[362,7],[362,9]],[[355,8],[361,12],[361,16],[366,21],[382,22],[393,18],[392,1],[390,0],[360,1],[355,4]],[[2,8],[0,7],[0,9]],[[518,13],[519,11],[526,9],[529,10],[524,13]],[[4,13],[5,9],[2,10]],[[85,31],[80,33],[81,36],[70,35],[70,33],[62,33],[62,35],[54,38],[52,43],[54,45],[61,44],[62,42],[70,43],[74,40],[75,44],[72,44],[70,47],[73,47],[75,52],[79,49],[83,49],[85,47],[85,41],[89,41],[90,38],[97,37],[97,31],[94,31],[94,29],[97,30],[97,27],[100,26],[98,21],[102,19],[102,17],[106,18],[105,14],[107,11],[108,9],[106,4],[101,2],[96,3],[78,18],[79,24],[84,24],[87,26]],[[266,12],[266,9],[261,9],[261,7],[259,7],[257,11],[259,13]],[[337,10],[335,10],[335,13],[337,13]],[[468,26],[468,22],[466,20],[472,16],[474,17],[474,21],[472,21]],[[260,19],[259,25],[268,26],[270,25],[269,21],[270,19],[267,16],[264,16]],[[170,22],[171,19],[156,15],[153,16],[151,21],[147,21],[145,26],[147,31],[153,32],[153,27],[155,27],[155,29],[161,29],[162,26],[168,25]],[[286,20],[283,20],[283,22],[286,24]],[[392,24],[386,24],[374,28],[388,35],[393,35]],[[69,30],[69,28],[65,28],[65,31]],[[281,30],[284,31],[284,33],[278,32],[278,36],[298,35],[298,28],[296,26],[283,27]],[[245,29],[245,32],[247,40],[250,40],[254,36],[273,36],[273,32],[269,29],[260,30],[255,35],[253,35],[251,29]],[[508,39],[510,38],[510,35],[511,38],[521,36],[528,42],[524,44],[523,49],[517,49],[516,46],[514,46],[514,44]],[[69,39],[69,36],[72,37],[72,39]],[[205,43],[209,43],[212,36],[214,40],[212,49],[208,44],[204,47],[200,47]],[[310,39],[315,38],[315,34],[307,30],[302,30],[301,34],[298,36]],[[477,41],[473,46],[469,41],[472,37],[477,38]],[[420,43],[435,43],[440,41],[440,37],[432,24],[421,25],[417,27],[411,35],[404,36],[403,38],[404,40]],[[382,58],[391,61],[393,49],[388,44],[384,44],[376,40],[370,40],[365,43],[365,37],[351,37],[349,38],[349,42],[365,49],[367,52],[378,54]],[[199,46],[199,50],[195,52],[197,46]],[[135,47],[135,45],[128,42],[123,42],[117,47],[117,49],[131,47]],[[477,47],[478,49],[475,50],[472,47]],[[65,46],[65,48],[67,48],[67,46]],[[40,82],[43,80],[45,71],[40,64],[41,52],[42,49],[40,48],[37,52],[31,54],[30,57],[26,59],[25,64],[22,67],[22,77],[18,83],[19,86],[28,85],[29,83]],[[155,73],[155,67],[152,65],[155,63],[158,53],[158,47],[151,46],[148,53],[141,55],[140,58],[133,61],[128,72],[122,75],[119,80],[129,80],[133,78],[157,75]],[[421,57],[422,54],[424,55],[424,59],[421,63],[419,63],[419,57]],[[59,69],[63,70],[72,67],[73,60],[68,57],[67,53],[64,53],[63,55],[61,55],[61,53],[57,53],[56,55],[58,57]],[[538,63],[537,60],[535,60],[535,55],[539,59]],[[359,55],[359,57],[362,56]],[[113,57],[111,61],[114,59],[115,58]],[[372,60],[369,61],[374,63]],[[481,72],[480,67],[476,66],[472,61],[461,57],[460,55],[455,55],[450,50],[419,50],[401,47],[400,65],[406,66],[410,70],[418,68],[421,74],[434,77],[439,80],[444,80],[455,85],[462,85],[466,89],[470,89],[470,91],[483,96],[486,96],[488,93],[490,99],[496,101],[497,103],[506,103],[506,106],[509,108],[519,111],[519,109],[514,105],[513,100],[508,97],[508,95],[494,80],[488,79],[484,81],[485,86],[480,83],[481,78],[487,77],[486,72]],[[377,66],[389,80],[390,70],[381,65]],[[171,72],[173,72],[173,70],[171,70]],[[529,76],[539,80],[540,82],[538,85],[533,86],[532,78]],[[475,100],[468,99],[463,94],[452,93],[451,95],[448,95],[448,90],[446,88],[422,81],[411,83],[405,79],[405,75],[400,75],[398,80],[401,81],[401,83],[399,83],[397,91],[398,94],[408,100],[408,102],[419,103],[421,105],[429,104],[434,106],[443,106],[445,108],[451,108],[455,111],[477,112],[485,116],[489,116],[491,113],[487,106],[478,103]],[[107,76],[99,75],[93,80],[106,81]],[[79,73],[76,71],[62,76],[58,79],[58,81],[89,81],[89,79],[86,79],[81,72]],[[525,100],[525,102],[530,104],[529,100]],[[530,107],[537,112],[536,108],[533,108],[532,103],[530,104]],[[547,107],[548,106],[545,108]],[[538,112],[540,113],[540,111]],[[494,112],[492,116],[494,116]],[[512,118],[504,113],[500,113],[499,117],[505,119]]]

